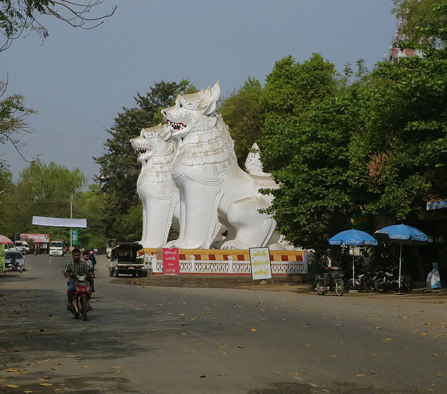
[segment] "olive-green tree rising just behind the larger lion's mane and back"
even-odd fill
[[[261,92],[261,83],[249,77],[238,91],[233,91],[223,100],[219,109],[235,141],[235,152],[241,168],[245,166],[245,160],[253,143],[261,137],[263,127]]]

